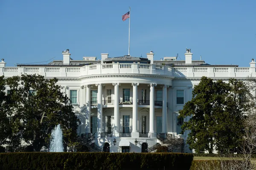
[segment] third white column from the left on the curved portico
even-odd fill
[[[113,83],[115,86],[114,94],[114,131],[113,136],[119,137],[119,83]]]

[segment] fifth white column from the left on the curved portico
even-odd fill
[[[154,131],[154,87],[156,84],[150,84],[150,107],[149,107],[149,133],[151,138],[157,137],[157,134]]]

